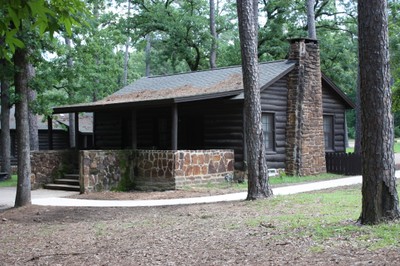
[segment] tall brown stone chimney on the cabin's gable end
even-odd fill
[[[297,63],[288,79],[286,172],[299,176],[325,173],[318,41],[298,38],[289,42],[289,60]]]

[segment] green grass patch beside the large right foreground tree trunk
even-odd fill
[[[265,201],[248,203],[257,213],[267,213],[257,218],[249,217],[244,224],[260,228],[272,225],[277,239],[311,238],[311,252],[322,252],[325,246],[346,243],[369,250],[400,248],[400,221],[373,226],[360,226],[361,186],[330,191],[276,196]],[[268,212],[268,210],[271,210]]]

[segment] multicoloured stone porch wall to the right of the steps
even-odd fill
[[[81,151],[81,192],[168,190],[233,175],[233,150]]]

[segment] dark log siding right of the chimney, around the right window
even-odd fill
[[[324,115],[334,115],[334,151],[345,151],[345,115],[343,102],[322,84],[322,106]]]

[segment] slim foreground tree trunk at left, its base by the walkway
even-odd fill
[[[18,154],[18,184],[15,207],[31,204],[31,162],[28,119],[28,60],[27,51],[17,49],[14,54],[15,92],[18,101],[15,104]]]

